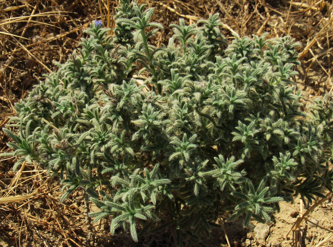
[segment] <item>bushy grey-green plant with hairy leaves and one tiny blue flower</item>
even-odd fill
[[[171,24],[156,47],[153,12],[122,0],[113,37],[93,22],[81,48],[15,105],[4,128],[12,151],[1,154],[18,157],[14,170],[36,162],[59,175],[62,202],[84,188],[112,234],[167,232],[179,246],[209,236],[224,212],[244,226],[270,222],[279,201],[332,191],[333,95],[300,110],[299,44],[264,34],[227,45],[215,14]]]

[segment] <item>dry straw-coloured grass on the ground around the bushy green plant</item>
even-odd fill
[[[0,0],[0,127],[15,115],[14,104],[26,97],[43,74],[55,70],[53,61],[63,63],[77,47],[82,30],[95,19],[115,25],[113,14],[119,1],[111,0]],[[143,3],[144,0],[138,1]],[[189,24],[208,14],[221,13],[223,34],[234,37],[269,33],[269,37],[290,35],[302,43],[302,66],[297,86],[303,90],[304,103],[332,90],[333,7],[328,0],[165,0],[147,1],[156,7],[155,20],[166,27],[151,42],[166,44],[168,28],[178,18]],[[112,33],[110,33],[112,34]],[[10,141],[0,131],[0,152]],[[91,208],[77,191],[70,203],[61,204],[57,181],[48,178],[38,164],[23,163],[17,173],[10,168],[13,158],[0,162],[0,239],[14,246],[89,246],[93,241],[111,243],[102,222],[93,225],[86,214]],[[331,194],[328,196],[332,196]],[[316,204],[319,205],[321,200]],[[294,246],[312,206],[296,220],[292,231]],[[310,246],[325,246],[332,231],[319,227]],[[327,231],[329,230],[329,231]],[[91,232],[91,234],[88,234]],[[119,234],[118,236],[121,236]],[[120,243],[129,243],[126,237]],[[2,244],[2,243],[0,243]]]

